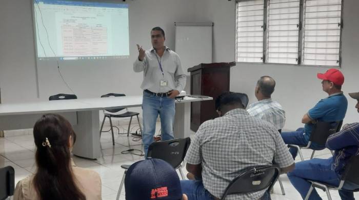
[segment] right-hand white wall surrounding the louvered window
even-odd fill
[[[213,27],[213,62],[235,61],[235,1],[197,0],[196,20],[214,22]],[[344,123],[358,121],[354,109],[356,101],[348,92],[359,91],[357,65],[359,52],[359,1],[346,0],[344,3],[344,29],[342,36],[342,69],[345,75],[343,91],[348,98],[348,111]],[[250,103],[254,102],[254,87],[262,75],[272,76],[277,85],[273,98],[282,104],[287,112],[286,129],[303,126],[302,116],[319,101],[327,96],[322,91],[321,81],[316,78],[317,72],[325,72],[324,67],[305,67],[278,64],[237,63],[231,69],[230,89],[249,95]]]

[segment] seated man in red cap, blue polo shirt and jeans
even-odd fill
[[[321,99],[313,108],[311,108],[302,118],[304,128],[298,128],[296,131],[282,132],[282,138],[285,144],[308,145],[310,134],[314,123],[319,122],[337,122],[345,117],[348,107],[347,98],[342,92],[344,75],[337,69],[329,69],[327,72],[318,73],[317,77],[322,79],[323,91],[328,93],[328,97]],[[315,143],[310,145],[311,149],[322,150],[325,146]],[[296,148],[289,148],[290,153],[295,159]]]

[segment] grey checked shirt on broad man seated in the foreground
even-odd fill
[[[242,169],[271,165],[273,159],[281,168],[293,164],[280,133],[244,109],[234,109],[204,122],[185,157],[189,164],[202,163],[204,187],[216,197],[222,196]],[[264,192],[229,195],[226,199],[259,199]]]

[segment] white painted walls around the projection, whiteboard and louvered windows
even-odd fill
[[[174,22],[214,22],[213,62],[232,62],[235,57],[235,2],[224,0],[135,0],[130,5],[130,59],[109,62],[108,66],[89,63],[88,66],[72,68],[61,64],[66,81],[78,97],[94,97],[116,91],[128,95],[139,95],[142,73],[132,71],[132,62],[137,56],[136,43],[150,47],[149,30],[162,26],[166,31],[166,42],[174,47]],[[345,75],[344,92],[359,91],[357,76],[357,52],[359,51],[359,1],[346,0],[344,5],[343,65]],[[33,41],[31,0],[3,0],[0,7],[0,87],[2,101],[36,101],[36,71]],[[286,129],[302,126],[300,123],[307,112],[320,98],[326,96],[321,89],[317,72],[328,68],[303,67],[277,64],[241,64],[231,70],[231,90],[246,92],[250,103],[256,80],[262,75],[275,78],[277,86],[273,98],[287,111]],[[50,64],[48,71],[41,71],[41,88],[45,98],[47,92],[69,92],[58,81],[57,66]],[[45,75],[44,75],[45,74]],[[44,79],[48,77],[48,79]],[[63,91],[65,90],[65,91]],[[45,91],[45,92],[44,92]],[[348,112],[345,123],[358,121],[354,109],[355,101],[348,95]]]

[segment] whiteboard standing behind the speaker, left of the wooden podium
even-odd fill
[[[188,68],[212,63],[213,23],[175,23],[175,27],[175,52],[187,75]]]

